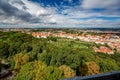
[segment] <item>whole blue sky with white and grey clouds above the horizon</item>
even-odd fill
[[[120,28],[120,0],[0,0],[0,28]]]

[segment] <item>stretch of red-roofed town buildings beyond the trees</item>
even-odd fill
[[[94,47],[95,52],[103,52],[108,54],[114,54],[113,50],[120,52],[120,37],[116,34],[101,34],[101,35],[90,35],[90,34],[71,34],[63,31],[60,32],[32,32],[32,36],[36,38],[47,38],[48,36],[62,37],[70,39],[79,39],[87,42],[95,42],[96,44],[108,44],[110,48],[101,46],[100,48]]]

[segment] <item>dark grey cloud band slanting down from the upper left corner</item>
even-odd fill
[[[7,0],[0,0],[0,15],[4,15],[7,17],[15,16],[18,19],[21,19],[23,21],[30,22],[30,23],[40,22],[39,18],[31,15],[28,12],[17,9],[16,7],[10,5]]]

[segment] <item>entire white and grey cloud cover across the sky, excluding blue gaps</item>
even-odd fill
[[[1,0],[5,1],[5,0]],[[72,2],[72,0],[65,0]],[[92,1],[92,2],[91,2]],[[102,2],[101,2],[102,1]],[[110,1],[110,2],[109,2]],[[113,2],[114,1],[114,2]],[[116,0],[119,2],[118,0]],[[42,7],[40,4],[28,1],[28,0],[9,0],[5,3],[10,4],[13,10],[11,14],[8,14],[8,11],[3,11],[0,6],[0,23],[6,24],[15,24],[15,25],[23,25],[23,26],[44,26],[44,27],[81,27],[81,26],[113,26],[119,25],[120,20],[115,22],[111,22],[109,20],[97,19],[94,17],[105,16],[105,17],[118,17],[119,12],[114,12],[111,10],[102,11],[102,12],[92,12],[87,9],[91,8],[109,8],[112,5],[118,4],[115,0],[83,0],[81,6],[73,8],[73,7],[63,7],[64,9],[61,11],[62,14],[57,12],[56,7],[46,6]],[[99,4],[98,4],[99,3]],[[97,6],[97,7],[96,7]],[[3,7],[3,6],[2,6]],[[85,8],[85,9],[81,9]],[[114,6],[117,8],[118,6]],[[14,9],[16,10],[14,12]],[[67,14],[67,15],[65,15]],[[28,16],[29,15],[29,16]],[[22,18],[21,18],[22,17]],[[93,18],[90,18],[93,17]],[[26,19],[27,18],[27,19]],[[86,20],[82,20],[80,18],[89,18]],[[25,20],[24,20],[25,19]],[[20,26],[18,26],[20,27]]]

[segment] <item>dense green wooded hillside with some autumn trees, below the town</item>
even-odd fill
[[[15,80],[59,80],[120,69],[119,53],[95,53],[93,46],[99,45],[66,38],[37,39],[19,32],[0,32],[0,61],[5,60],[11,65],[10,69],[17,72]]]

